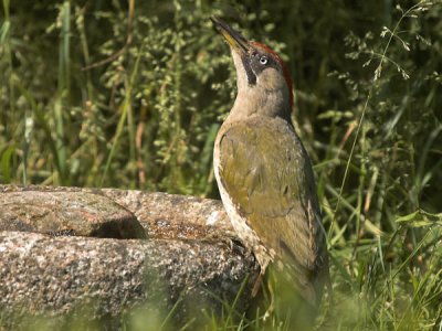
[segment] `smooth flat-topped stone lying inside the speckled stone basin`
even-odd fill
[[[0,193],[0,231],[105,238],[145,238],[136,216],[88,192]]]

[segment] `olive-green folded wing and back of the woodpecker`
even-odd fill
[[[235,124],[219,141],[220,179],[236,212],[316,301],[327,255],[312,166],[292,126]]]

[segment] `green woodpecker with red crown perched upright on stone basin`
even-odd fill
[[[291,119],[291,75],[270,47],[220,19],[212,22],[230,45],[238,76],[236,99],[213,152],[224,209],[261,274],[275,261],[298,295],[317,306],[328,258],[312,163]]]

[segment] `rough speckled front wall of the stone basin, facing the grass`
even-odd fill
[[[253,256],[223,242],[0,232],[0,324],[7,328],[29,316],[69,316],[85,307],[88,319],[118,323],[124,311],[143,307],[144,313],[166,314],[176,302],[173,320],[180,323],[201,309],[219,313],[244,279],[259,273]],[[253,277],[239,311],[248,305]]]

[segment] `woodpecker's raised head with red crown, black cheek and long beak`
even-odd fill
[[[232,51],[239,94],[260,98],[262,106],[274,103],[274,107],[285,108],[282,110],[290,114],[293,106],[293,83],[281,57],[269,46],[248,41],[222,20],[211,20]]]

